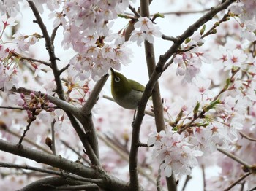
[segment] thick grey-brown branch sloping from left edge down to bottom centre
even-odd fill
[[[18,146],[16,144],[12,144],[8,141],[4,141],[1,139],[0,150],[12,153],[14,155],[18,155],[20,157],[29,158],[36,161],[37,163],[44,163],[55,168],[60,168],[64,171],[68,171],[72,174],[76,174],[84,178],[103,179],[104,182],[97,182],[97,184],[99,185],[99,187],[105,188],[107,190],[109,188],[111,188],[111,190],[113,191],[128,190],[126,182],[116,179],[113,176],[108,176],[105,171],[102,171],[99,168],[89,168],[88,166],[72,162],[61,156],[49,155],[36,149],[30,149],[29,147],[25,147],[23,145]]]

